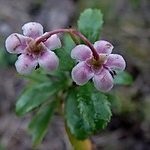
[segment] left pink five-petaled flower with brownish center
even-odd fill
[[[13,33],[5,42],[9,53],[21,54],[15,63],[17,71],[20,74],[29,74],[38,65],[49,72],[57,69],[59,59],[51,50],[61,47],[59,37],[55,34],[45,42],[36,44],[36,39],[43,35],[42,25],[29,22],[22,27],[22,30],[23,35]]]

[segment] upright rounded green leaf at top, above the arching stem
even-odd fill
[[[99,9],[86,9],[79,17],[78,29],[92,42],[99,40],[103,15]]]

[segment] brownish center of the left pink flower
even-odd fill
[[[43,51],[43,45],[42,43],[36,43],[35,40],[31,39],[31,41],[28,43],[27,51],[31,54],[38,55]]]

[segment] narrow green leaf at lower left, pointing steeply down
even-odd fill
[[[50,104],[41,107],[36,116],[31,120],[29,131],[32,135],[33,145],[40,144],[44,138],[56,106],[57,101],[52,101]]]

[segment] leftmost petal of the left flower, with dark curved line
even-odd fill
[[[28,40],[28,37],[13,33],[5,41],[6,50],[14,54],[23,53]]]

